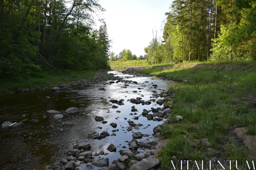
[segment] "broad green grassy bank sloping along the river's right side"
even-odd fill
[[[163,169],[173,169],[170,160],[175,160],[175,165],[176,160],[238,160],[241,166],[242,160],[255,159],[256,66],[250,64],[256,62],[177,64],[140,70],[188,80],[169,89],[175,96],[172,121],[162,127],[162,137],[170,139],[160,153]],[[183,120],[177,122],[176,115]],[[249,135],[254,139],[245,141]],[[210,145],[203,144],[202,139],[208,139]]]

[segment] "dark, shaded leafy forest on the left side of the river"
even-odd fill
[[[0,78],[108,67],[111,40],[97,0],[1,0]]]

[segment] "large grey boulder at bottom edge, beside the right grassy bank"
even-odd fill
[[[160,160],[156,158],[144,158],[140,162],[131,166],[134,170],[150,170],[160,165]]]

